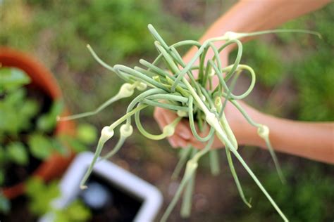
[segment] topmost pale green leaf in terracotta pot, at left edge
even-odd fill
[[[17,89],[30,83],[30,77],[17,68],[0,68],[0,92],[4,90]]]

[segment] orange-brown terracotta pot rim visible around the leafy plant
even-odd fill
[[[61,91],[51,72],[30,55],[14,51],[11,48],[0,48],[0,63],[3,67],[18,67],[24,70],[31,78],[31,84],[39,90],[44,91],[52,100],[61,98]],[[65,111],[63,115],[65,114],[68,113]],[[74,129],[75,126],[73,122],[58,122],[55,133],[56,135],[62,133],[70,135],[74,133]],[[32,175],[39,176],[45,181],[61,176],[73,157],[73,153],[66,157],[59,154],[51,155],[49,159],[38,166]],[[24,183],[23,181],[11,187],[3,188],[2,191],[9,199],[18,197],[25,191]]]

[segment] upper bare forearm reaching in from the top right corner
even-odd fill
[[[209,27],[199,42],[203,43],[206,39],[222,36],[228,31],[256,32],[273,29],[288,20],[316,11],[329,2],[330,0],[239,1]],[[246,40],[242,39],[242,41]],[[185,61],[189,61],[196,51],[196,48],[191,48],[185,55]]]

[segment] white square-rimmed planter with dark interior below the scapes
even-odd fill
[[[162,204],[161,192],[106,159],[94,167],[88,188],[80,190],[80,181],[93,158],[92,152],[75,157],[59,183],[54,209],[66,211],[79,201],[89,209],[89,221],[154,221]],[[51,214],[49,211],[41,221],[57,221]]]

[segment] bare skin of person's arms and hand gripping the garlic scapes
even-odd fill
[[[256,32],[270,30],[278,25],[297,18],[301,15],[316,11],[330,1],[326,0],[267,0],[267,1],[239,1],[235,6],[222,15],[204,33],[199,42],[205,39],[218,37],[227,31],[233,32]],[[266,19],[263,19],[266,18]],[[248,41],[242,39],[242,41]],[[223,43],[216,43],[220,46]],[[234,46],[230,46],[221,53],[223,65],[228,64],[228,54]],[[196,48],[191,48],[183,57],[187,63]],[[213,52],[207,54],[212,58]],[[213,79],[216,85],[218,79]],[[270,139],[273,148],[278,152],[285,152],[307,159],[334,164],[334,123],[333,122],[297,122],[290,119],[280,119],[266,115],[253,107],[240,102],[254,121],[265,124],[270,129]],[[256,128],[248,124],[244,117],[230,103],[227,104],[225,115],[231,129],[235,133],[239,145],[255,145],[266,148],[264,141],[257,135]],[[177,117],[175,112],[156,107],[154,118],[161,129],[170,124]],[[203,134],[206,135],[207,132]],[[174,148],[185,147],[188,144],[196,148],[203,148],[204,144],[197,141],[190,131],[189,123],[185,120],[176,126],[175,134],[168,138]],[[223,144],[216,138],[214,148],[223,148]]]

